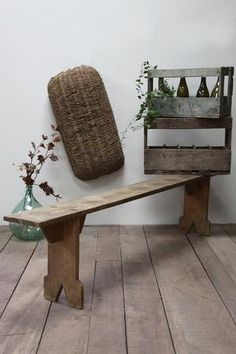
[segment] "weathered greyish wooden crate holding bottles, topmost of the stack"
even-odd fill
[[[153,88],[153,80],[160,78],[185,77],[219,77],[219,97],[171,97],[158,98],[156,108],[161,117],[197,117],[197,118],[222,118],[231,115],[232,91],[233,91],[233,67],[219,68],[194,68],[194,69],[169,69],[150,70],[149,89]],[[227,83],[227,95],[224,95],[225,81]],[[199,80],[199,79],[198,79]]]

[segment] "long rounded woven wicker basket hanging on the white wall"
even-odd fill
[[[74,175],[90,180],[118,170],[124,154],[98,72],[88,66],[62,72],[48,93]]]

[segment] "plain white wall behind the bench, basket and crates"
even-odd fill
[[[24,191],[12,163],[24,161],[30,141],[47,133],[54,121],[47,98],[51,76],[81,64],[95,67],[122,131],[138,109],[135,79],[144,60],[160,68],[236,65],[236,2],[2,0],[0,46],[2,220]],[[61,147],[60,161],[45,165],[42,177],[64,199],[150,178],[143,174],[142,139],[141,131],[129,132],[125,166],[110,176],[77,180]],[[212,221],[236,221],[235,176],[233,153],[231,176],[212,180]],[[87,223],[175,223],[182,212],[182,192],[168,191],[92,214]],[[35,194],[43,204],[54,202],[40,191]]]

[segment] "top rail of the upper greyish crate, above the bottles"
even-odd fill
[[[186,69],[152,69],[149,70],[149,78],[180,78],[180,77],[202,77],[202,76],[220,76],[229,75],[233,67],[215,67],[215,68],[186,68]]]

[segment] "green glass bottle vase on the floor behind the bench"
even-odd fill
[[[24,198],[12,210],[13,214],[20,214],[23,211],[39,208],[42,205],[35,199],[32,186],[27,186]],[[40,227],[33,227],[24,224],[10,223],[12,234],[25,241],[38,241],[44,238],[44,234]]]

